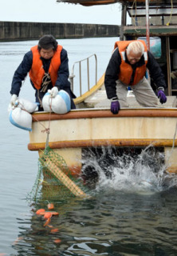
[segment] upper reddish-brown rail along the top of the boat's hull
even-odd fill
[[[132,109],[120,110],[119,114],[112,114],[110,110],[78,110],[67,114],[36,113],[32,114],[33,122],[64,120],[77,118],[177,118],[176,109]]]

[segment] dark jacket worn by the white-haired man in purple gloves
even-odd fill
[[[126,56],[126,62],[128,62],[127,56]],[[140,58],[140,61],[136,62],[136,64],[132,66],[133,74],[135,74],[136,67],[144,65],[144,63],[145,63],[144,55],[142,55],[142,57]],[[116,50],[114,50],[112,57],[108,63],[108,66],[105,72],[105,78],[104,78],[104,86],[105,86],[108,98],[116,97],[116,80],[119,79],[120,64],[121,64],[120,52],[118,48],[116,48]],[[155,86],[157,88],[163,87],[165,89],[167,85],[163,76],[163,72],[150,51],[148,51],[147,68],[149,70],[151,79],[155,83]],[[131,84],[128,86],[131,86]]]

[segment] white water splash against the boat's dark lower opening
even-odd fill
[[[177,186],[175,174],[167,172],[163,150],[104,148],[84,153],[83,174],[96,182],[96,190],[154,193]]]

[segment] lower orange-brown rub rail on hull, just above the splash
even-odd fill
[[[172,147],[172,139],[100,139],[100,140],[82,140],[82,141],[62,141],[62,142],[49,142],[51,149],[61,148],[77,148],[77,147],[96,147],[96,146],[149,146],[155,147]],[[177,146],[177,140],[175,140]],[[45,143],[29,143],[28,149],[31,151],[44,150]]]

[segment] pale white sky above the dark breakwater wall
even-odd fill
[[[0,0],[2,22],[61,22],[120,25],[120,3],[81,6],[57,0]],[[130,19],[128,18],[128,21]],[[130,22],[128,23],[130,24]]]

